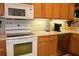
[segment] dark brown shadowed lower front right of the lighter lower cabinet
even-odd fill
[[[59,34],[57,37],[58,37],[58,47],[57,47],[58,54],[62,55],[67,53],[70,34]]]

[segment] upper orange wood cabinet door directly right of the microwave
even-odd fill
[[[34,3],[34,17],[35,18],[42,18],[43,12],[43,4],[42,3]]]

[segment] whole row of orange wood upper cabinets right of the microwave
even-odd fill
[[[35,3],[35,18],[73,19],[74,4],[69,3]]]

